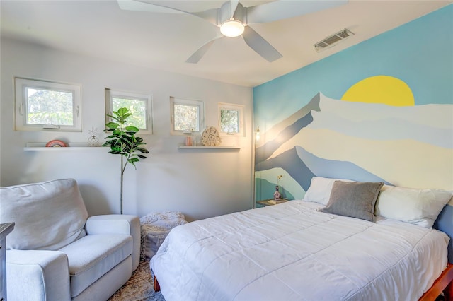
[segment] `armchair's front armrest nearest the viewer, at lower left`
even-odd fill
[[[8,300],[71,300],[66,254],[45,250],[6,250]]]

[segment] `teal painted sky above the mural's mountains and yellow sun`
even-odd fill
[[[316,93],[340,99],[378,75],[408,84],[415,105],[452,104],[453,4],[253,88],[255,124],[270,129]]]

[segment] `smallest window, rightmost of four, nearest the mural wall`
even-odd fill
[[[219,134],[244,136],[242,105],[219,102]]]

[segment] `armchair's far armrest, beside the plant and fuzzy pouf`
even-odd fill
[[[138,216],[106,214],[103,216],[90,216],[86,220],[85,230],[87,235],[98,234],[125,234],[131,235],[133,240],[132,271],[139,266],[140,261],[140,219]]]

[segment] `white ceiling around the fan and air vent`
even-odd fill
[[[292,1],[304,5],[304,1]],[[204,11],[218,8],[223,2],[185,0],[166,4],[186,11]],[[241,1],[243,6],[265,2],[268,1]],[[1,0],[1,36],[253,87],[452,3],[350,0],[337,8],[251,25],[283,55],[272,63],[253,52],[242,37],[219,39],[198,64],[185,63],[195,50],[217,35],[217,27],[188,14],[124,11],[114,0]],[[314,43],[343,28],[355,35],[323,52],[314,50]]]

